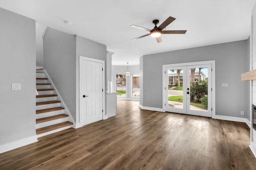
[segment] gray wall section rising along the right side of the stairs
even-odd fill
[[[76,37],[48,28],[44,40],[44,69],[73,118],[76,117]],[[75,119],[74,119],[75,120]]]

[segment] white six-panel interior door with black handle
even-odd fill
[[[80,115],[84,125],[103,119],[103,63],[80,58]]]

